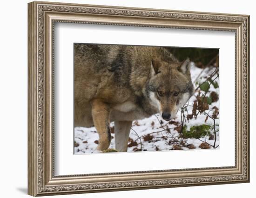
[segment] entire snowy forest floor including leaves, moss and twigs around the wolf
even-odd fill
[[[164,121],[159,114],[133,121],[128,152],[219,148],[219,87],[216,67],[200,69],[191,63],[190,71],[195,89],[198,88],[194,96],[171,121]],[[109,148],[115,148],[113,122],[110,128],[112,140]],[[74,153],[94,152],[98,139],[94,127],[76,127]]]

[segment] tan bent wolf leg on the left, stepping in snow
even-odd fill
[[[111,142],[108,122],[110,109],[108,104],[99,99],[92,100],[91,105],[94,126],[99,134],[99,145],[97,147],[97,151],[104,151],[108,149]]]

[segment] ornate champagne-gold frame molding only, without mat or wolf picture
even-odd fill
[[[54,22],[236,32],[236,166],[102,173],[89,177],[54,176]],[[249,182],[248,15],[31,2],[28,4],[28,89],[29,195]],[[127,177],[120,177],[124,175]],[[132,179],[134,176],[140,179]]]

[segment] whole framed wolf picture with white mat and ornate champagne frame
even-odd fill
[[[249,182],[249,16],[28,4],[28,194]]]

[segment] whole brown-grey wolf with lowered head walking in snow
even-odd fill
[[[95,126],[108,149],[126,152],[132,121],[161,113],[175,118],[193,95],[190,60],[179,62],[164,47],[74,44],[74,126]]]

